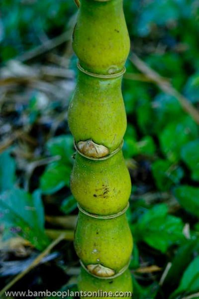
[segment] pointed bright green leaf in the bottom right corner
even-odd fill
[[[170,296],[170,299],[177,298],[177,295],[192,294],[199,291],[199,256],[196,257],[186,271],[180,282],[178,289]]]

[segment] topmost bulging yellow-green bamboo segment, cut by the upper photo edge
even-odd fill
[[[122,70],[130,47],[122,2],[81,0],[73,49],[84,69],[97,74]]]

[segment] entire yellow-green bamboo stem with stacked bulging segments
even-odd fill
[[[121,94],[129,37],[122,0],[81,0],[73,34],[79,77],[68,122],[77,149],[71,191],[79,203],[75,249],[82,291],[131,291],[131,181],[122,155]]]

